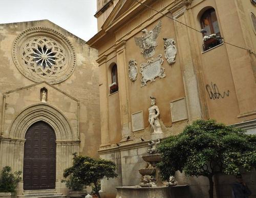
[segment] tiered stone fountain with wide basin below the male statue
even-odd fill
[[[169,182],[163,182],[161,180],[159,170],[156,164],[161,161],[161,156],[157,152],[157,145],[160,143],[160,139],[154,141],[150,140],[148,145],[151,146],[147,150],[148,155],[142,156],[142,159],[146,162],[146,166],[139,169],[139,173],[142,175],[141,183],[137,186],[122,186],[116,187],[116,198],[138,198],[138,197],[150,197],[150,198],[189,198],[188,185],[177,185],[178,182],[173,176],[170,176]]]

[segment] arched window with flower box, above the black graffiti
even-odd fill
[[[222,43],[220,28],[214,8],[206,10],[200,18],[201,28],[203,32],[204,51],[209,50]]]

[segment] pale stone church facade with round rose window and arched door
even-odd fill
[[[98,157],[97,50],[39,20],[1,24],[0,57],[0,167],[23,172],[18,196],[66,195],[61,180],[72,154]]]

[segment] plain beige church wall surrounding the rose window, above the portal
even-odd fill
[[[24,23],[2,24],[0,25],[0,98],[4,93],[19,89],[20,87],[34,84],[35,82],[24,77],[14,65],[12,59],[12,43],[16,36],[28,28],[42,26],[52,28],[65,35],[72,43],[76,53],[76,69],[70,78],[55,84],[57,89],[74,97],[79,101],[79,134],[80,134],[80,152],[84,155],[97,157],[97,149],[100,144],[100,115],[99,115],[99,92],[98,92],[98,67],[96,63],[97,50],[88,47],[85,41],[63,30],[48,20],[30,21]],[[6,112],[12,116],[5,118],[10,123],[15,114],[21,109],[39,102],[39,87],[31,87],[28,92],[13,93],[8,100],[12,100],[15,109],[12,106],[6,106]],[[72,103],[69,97],[63,95],[49,87],[49,103],[57,108],[65,107],[65,116],[73,123],[73,119],[78,119],[77,105]],[[9,97],[9,96],[8,96]],[[15,101],[14,101],[15,100]],[[3,100],[0,100],[1,109]],[[0,119],[2,119],[2,114]],[[2,123],[0,123],[2,127]],[[78,127],[74,127],[77,131]],[[5,130],[8,126],[5,126]],[[95,138],[97,137],[97,138]]]

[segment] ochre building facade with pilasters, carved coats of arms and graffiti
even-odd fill
[[[144,166],[141,156],[146,154],[146,142],[152,134],[147,110],[150,97],[157,100],[164,137],[180,133],[187,123],[200,118],[237,124],[255,133],[256,39],[251,17],[256,13],[255,5],[250,0],[139,2],[167,17],[137,1],[98,0],[95,14],[98,33],[88,41],[99,51],[99,154],[102,158],[115,161],[119,167],[117,180],[102,182],[103,197],[115,197],[116,186],[139,184],[138,169]],[[216,32],[208,33],[223,37],[212,40],[214,45],[207,41],[209,38],[206,39],[205,34],[200,33],[203,15],[212,10],[216,18],[212,19],[215,23],[210,28]],[[159,21],[161,28],[156,31]],[[209,27],[205,29],[209,31]],[[168,40],[170,43],[167,43]],[[160,55],[162,63],[155,61]],[[139,70],[134,80],[130,79],[130,60],[136,61]],[[117,64],[118,91],[110,94],[114,64]],[[160,68],[164,77],[157,75]],[[149,78],[152,80],[141,86],[144,76],[154,78]],[[138,112],[141,112],[143,119],[133,123],[132,118]],[[133,130],[135,124],[140,126],[140,130]],[[248,184],[252,189],[255,173],[251,175]],[[179,184],[190,185],[193,197],[208,197],[207,179],[187,179],[179,173],[176,176]],[[223,181],[222,175],[216,178],[218,188],[215,196],[231,197],[230,182],[229,179]],[[252,197],[256,197],[255,191]]]

